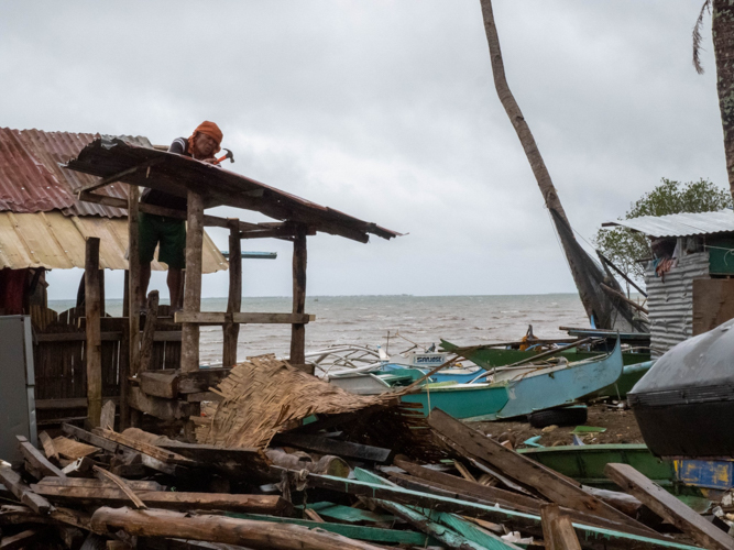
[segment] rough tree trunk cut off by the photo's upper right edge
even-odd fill
[[[712,36],[726,174],[734,197],[734,6],[731,0],[713,0]]]

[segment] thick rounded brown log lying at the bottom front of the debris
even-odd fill
[[[175,494],[175,493],[174,493]],[[255,521],[222,516],[180,514],[164,510],[99,508],[94,528],[110,532],[123,529],[139,537],[174,537],[238,544],[254,550],[377,550],[377,547],[291,524]]]

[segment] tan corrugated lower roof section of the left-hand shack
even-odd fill
[[[128,250],[127,218],[64,216],[58,210],[36,213],[0,212],[0,268],[84,268],[87,237],[100,239],[100,267],[128,268],[124,257]],[[227,260],[206,232],[202,249],[204,273],[229,267]],[[153,261],[152,268],[165,271],[167,267]]]

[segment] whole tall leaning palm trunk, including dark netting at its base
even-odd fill
[[[527,125],[517,101],[515,101],[512,91],[510,91],[502,61],[502,51],[500,50],[500,36],[494,24],[492,1],[481,0],[481,4],[484,15],[486,41],[490,45],[494,86],[500,96],[500,101],[505,108],[507,117],[510,117],[510,121],[515,128],[517,138],[519,138],[525,150],[525,155],[530,163],[535,179],[538,182],[546,207],[550,210],[550,218],[556,226],[563,245],[563,252],[566,253],[573,282],[579,289],[579,296],[589,319],[600,329],[617,328],[621,330],[647,331],[646,322],[637,319],[626,302],[622,301],[618,296],[615,297],[614,294],[604,290],[602,284],[618,293],[622,293],[622,287],[614,276],[609,271],[603,271],[573,238],[571,224],[566,217],[556,187],[550,179],[546,163],[543,161],[543,156],[540,156],[535,138],[533,138],[530,128]]]

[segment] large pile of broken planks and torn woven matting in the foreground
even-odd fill
[[[229,419],[237,444],[117,432],[108,406],[102,428],[63,425],[39,449],[18,438],[23,462],[0,465],[0,549],[734,549],[628,465],[607,465],[626,493],[590,490],[439,409],[350,405],[315,378],[288,402],[294,372],[252,391],[235,367],[213,391],[222,408],[202,418]],[[242,407],[259,416],[239,421]]]

